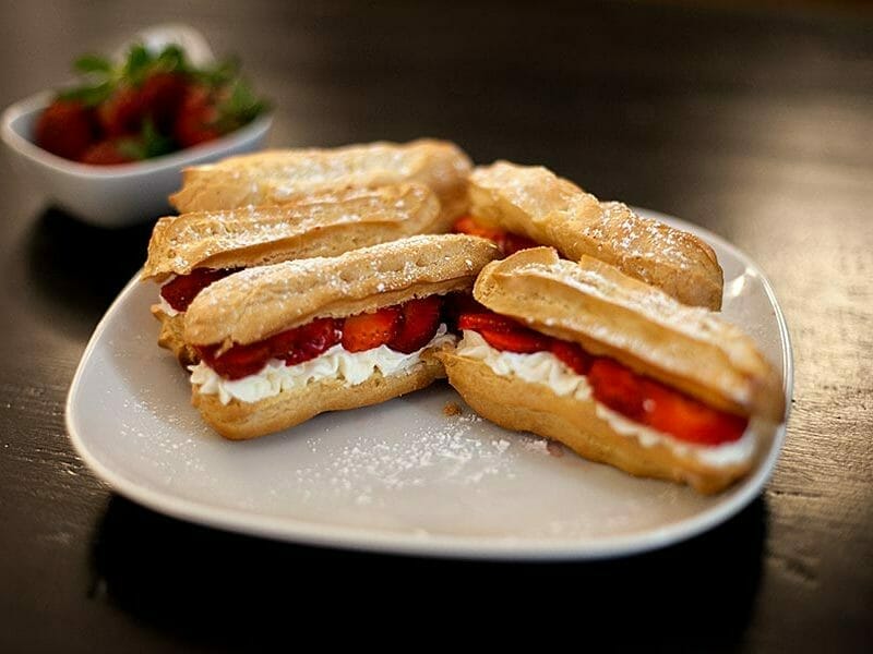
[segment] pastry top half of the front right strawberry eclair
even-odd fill
[[[593,257],[576,264],[551,247],[525,250],[486,266],[474,296],[714,407],[782,420],[779,376],[749,336]]]

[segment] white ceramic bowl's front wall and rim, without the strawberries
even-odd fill
[[[47,92],[9,107],[0,125],[3,142],[15,154],[22,177],[58,206],[101,227],[124,227],[165,215],[167,196],[181,185],[182,168],[259,149],[273,123],[272,116],[262,116],[222,138],[171,155],[119,166],[88,166],[34,144],[34,125],[50,99]]]

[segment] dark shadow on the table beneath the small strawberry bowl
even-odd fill
[[[145,262],[152,222],[103,229],[50,207],[25,235],[28,301],[65,330],[87,338]]]

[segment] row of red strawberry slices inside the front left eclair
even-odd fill
[[[220,354],[216,354],[217,346],[196,350],[201,360],[226,379],[253,375],[271,359],[282,359],[287,365],[303,363],[340,342],[348,352],[387,346],[411,354],[436,334],[443,322],[443,298],[430,295],[347,318],[316,318],[256,343],[234,346]]]

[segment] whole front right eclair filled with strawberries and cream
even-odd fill
[[[550,247],[486,266],[482,308],[440,353],[480,415],[587,459],[715,493],[752,468],[753,421],[779,423],[778,375],[739,328],[618,268]]]

